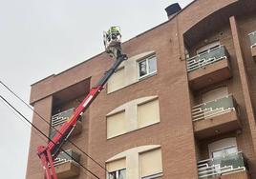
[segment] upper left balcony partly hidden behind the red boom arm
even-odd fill
[[[60,127],[69,120],[69,118],[71,117],[71,115],[73,114],[74,109],[67,109],[65,111],[62,111],[60,113],[54,114],[52,116],[52,127],[54,127],[55,129],[60,129]],[[71,136],[75,136],[79,133],[81,133],[82,131],[82,122],[79,120],[77,121],[77,124],[75,126],[75,129],[73,130]],[[54,134],[56,133],[56,131],[54,129],[51,130],[50,132],[50,137],[53,138]]]

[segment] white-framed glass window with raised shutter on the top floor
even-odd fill
[[[157,58],[156,56],[148,57],[139,62],[139,78],[157,72]]]

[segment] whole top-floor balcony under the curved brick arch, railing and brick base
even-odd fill
[[[189,85],[192,89],[202,89],[224,81],[232,76],[229,54],[224,46],[207,50],[187,59]]]

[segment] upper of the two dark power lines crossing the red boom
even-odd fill
[[[48,122],[42,115],[40,115],[35,109],[32,109],[32,107],[26,103],[19,95],[17,95],[11,88],[9,88],[4,82],[2,82],[0,80],[0,83],[6,88],[8,89],[16,98],[18,98],[23,104],[25,104],[29,109],[31,109],[39,118],[41,118],[44,122],[46,122],[50,128],[54,129],[55,131],[57,131],[58,133],[61,133],[58,129],[55,129],[50,122]],[[62,134],[62,133],[61,133]],[[81,151],[83,154],[85,154],[88,158],[90,158],[92,161],[94,161],[96,163],[97,166],[99,166],[101,169],[104,169],[107,173],[109,173],[108,169],[106,169],[105,167],[103,167],[99,162],[97,162],[92,156],[90,156],[88,153],[86,153],[83,149],[79,148],[77,145],[75,145],[74,142],[72,142],[69,138],[67,139],[67,141],[72,144],[76,149],[78,149],[79,151]]]

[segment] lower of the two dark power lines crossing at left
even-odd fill
[[[39,131],[45,138],[47,138],[49,141],[53,142],[53,140],[48,137],[42,130],[38,129],[34,124],[32,124],[32,122],[27,118],[25,117],[18,109],[16,109],[15,107],[13,107],[11,105],[11,103],[5,99],[2,95],[0,95],[0,98],[2,99],[3,102],[5,102],[7,105],[9,105],[11,107],[11,109],[13,109],[15,112],[17,112],[23,119],[25,119],[28,123],[30,123],[30,125],[36,129],[37,131]],[[54,145],[56,145],[54,142],[53,142]],[[90,172],[93,176],[95,176],[97,179],[100,179],[93,171],[91,171],[90,169],[87,169],[86,167],[84,167],[79,161],[77,161],[72,155],[70,155],[67,151],[65,151],[65,149],[62,149],[60,147],[60,149],[65,153],[67,154],[69,157],[71,157],[72,160],[74,160],[81,168],[87,170],[88,172]]]

